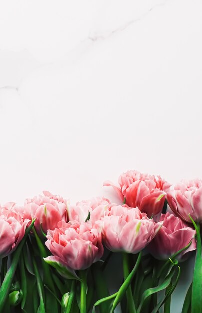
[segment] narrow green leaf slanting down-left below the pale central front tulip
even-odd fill
[[[128,289],[128,287],[131,284],[131,281],[138,269],[140,260],[141,260],[141,255],[142,255],[142,251],[139,252],[137,261],[135,263],[135,266],[133,268],[133,270],[131,271],[131,273],[128,275],[128,277],[126,278],[126,280],[124,281],[124,283],[122,284],[122,286],[119,288],[118,294],[114,300],[113,306],[112,306],[112,313],[114,312],[115,308],[117,307],[117,305],[121,302],[124,294],[126,293],[126,290]]]

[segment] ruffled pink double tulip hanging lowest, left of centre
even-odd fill
[[[59,222],[58,228],[48,230],[48,249],[54,256],[46,258],[72,270],[86,269],[103,254],[101,233],[90,221]]]

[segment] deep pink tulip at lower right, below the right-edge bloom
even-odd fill
[[[162,214],[160,221],[163,221],[163,225],[148,246],[150,253],[159,260],[168,260],[192,240],[189,248],[176,257],[179,261],[184,260],[187,252],[196,249],[195,230],[170,213]]]

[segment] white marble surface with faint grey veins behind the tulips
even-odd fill
[[[0,202],[127,169],[202,177],[202,1],[0,0]]]

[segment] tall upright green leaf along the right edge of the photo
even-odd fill
[[[189,215],[195,230],[197,240],[197,251],[195,256],[195,266],[192,281],[192,298],[191,298],[191,312],[202,312],[202,243],[200,237],[200,224],[196,224]]]

